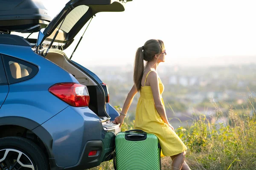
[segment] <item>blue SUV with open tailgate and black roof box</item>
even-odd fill
[[[119,113],[107,85],[63,50],[96,13],[124,11],[127,1],[70,0],[52,20],[38,0],[0,1],[0,170],[82,170],[113,159]]]

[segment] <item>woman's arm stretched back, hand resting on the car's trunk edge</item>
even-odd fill
[[[126,99],[125,99],[125,103],[124,103],[124,106],[122,108],[122,113],[123,114],[127,113],[128,109],[131,105],[131,102],[133,101],[134,96],[135,96],[135,94],[137,94],[137,92],[138,92],[137,88],[135,87],[135,85],[133,85],[131,90],[129,91]],[[121,127],[123,122],[124,122],[124,119],[125,119],[125,116],[121,114],[120,116],[117,116],[113,122],[116,123],[116,124],[120,123],[120,127]]]

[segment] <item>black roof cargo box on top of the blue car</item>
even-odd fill
[[[51,20],[40,0],[0,0],[0,31],[35,32]]]

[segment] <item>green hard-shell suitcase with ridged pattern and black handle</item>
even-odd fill
[[[115,170],[160,170],[160,143],[143,130],[119,132],[115,139]]]

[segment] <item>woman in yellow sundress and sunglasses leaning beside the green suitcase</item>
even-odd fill
[[[114,120],[123,124],[125,115],[137,92],[140,98],[136,108],[134,129],[155,134],[160,142],[163,156],[171,156],[172,170],[190,170],[184,161],[187,147],[169,124],[162,98],[164,86],[157,74],[157,66],[165,61],[163,41],[148,40],[137,49],[134,61],[134,85],[125,100],[120,116]],[[144,60],[147,62],[144,66]]]

